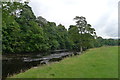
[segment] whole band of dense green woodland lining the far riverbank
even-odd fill
[[[67,30],[42,16],[36,17],[32,8],[25,3],[2,3],[2,48],[3,53],[31,53],[51,50],[83,51],[101,46],[120,45],[117,39],[103,39],[86,18],[73,18],[76,25]]]

